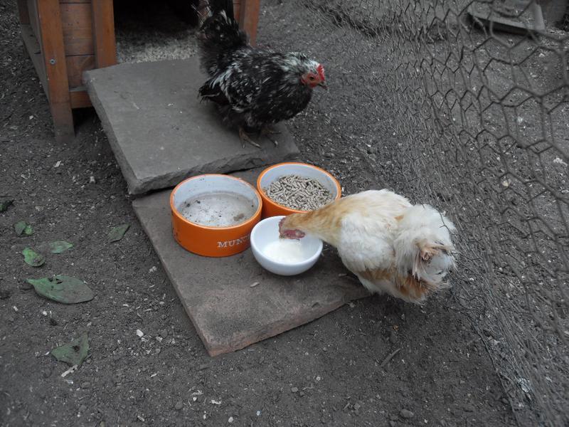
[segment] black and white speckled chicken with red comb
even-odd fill
[[[233,1],[210,0],[209,17],[198,35],[201,65],[209,79],[202,100],[216,103],[223,121],[259,147],[248,132],[276,133],[271,128],[307,107],[312,90],[326,88],[324,67],[303,53],[278,53],[248,44],[233,17]],[[277,144],[276,141],[275,144]]]

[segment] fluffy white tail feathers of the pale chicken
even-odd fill
[[[431,206],[409,207],[393,243],[398,272],[413,275],[433,290],[444,287],[445,276],[455,264],[454,230],[454,224]]]

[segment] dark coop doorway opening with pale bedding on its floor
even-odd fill
[[[137,63],[196,55],[197,3],[115,0],[117,61]]]

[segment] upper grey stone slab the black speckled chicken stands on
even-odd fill
[[[124,63],[85,72],[84,81],[131,194],[174,186],[187,176],[227,173],[294,159],[299,151],[279,124],[279,142],[242,147],[235,129],[198,100],[206,80],[197,58]],[[253,138],[256,135],[252,136]]]

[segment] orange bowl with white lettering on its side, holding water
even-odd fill
[[[198,255],[222,257],[249,248],[262,199],[243,179],[205,174],[178,184],[170,195],[170,209],[180,246]]]

